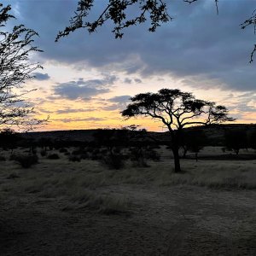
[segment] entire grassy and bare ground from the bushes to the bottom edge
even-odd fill
[[[207,147],[174,173],[170,150],[156,150],[119,170],[64,150],[22,168],[3,151],[0,254],[256,255],[256,160],[208,160],[229,153]]]

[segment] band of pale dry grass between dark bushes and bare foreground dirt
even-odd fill
[[[8,152],[4,154],[9,158]],[[149,168],[132,167],[127,163],[121,170],[108,170],[98,161],[70,162],[64,154],[60,156],[60,160],[40,156],[39,164],[29,169],[22,169],[14,161],[3,161],[1,193],[3,196],[30,194],[49,199],[65,198],[67,209],[88,207],[97,212],[113,213],[127,211],[129,201],[123,195],[104,195],[104,187],[112,185],[188,184],[214,189],[256,189],[255,160],[182,160],[183,173],[174,173],[172,160],[167,158],[150,162]]]

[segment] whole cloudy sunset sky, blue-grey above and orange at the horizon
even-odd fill
[[[256,9],[254,0],[213,0],[193,4],[166,1],[173,20],[148,32],[149,24],[125,29],[115,39],[107,23],[89,34],[78,30],[55,43],[68,26],[77,0],[12,0],[8,26],[24,24],[38,32],[34,44],[44,52],[31,56],[43,70],[24,89],[38,118],[49,115],[40,131],[119,128],[142,125],[165,131],[154,119],[126,120],[120,111],[130,97],[161,88],[192,92],[196,98],[229,108],[237,123],[255,123],[256,56],[249,63],[256,35],[240,24]],[[100,14],[105,0],[96,0],[90,19]],[[131,9],[132,12],[135,11]]]

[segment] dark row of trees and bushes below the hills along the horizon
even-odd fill
[[[67,155],[70,161],[100,160],[114,169],[123,167],[125,160],[130,160],[133,166],[146,167],[147,160],[160,160],[160,154],[156,149],[161,145],[172,148],[170,137],[160,140],[144,129],[137,130],[137,126],[134,125],[120,130],[96,130],[92,137],[90,141],[49,137],[33,139],[24,138],[13,130],[5,129],[0,132],[0,148],[10,149],[12,153],[15,148],[26,148],[25,156],[13,154],[10,157],[10,160],[16,160],[25,167],[37,163],[38,154],[48,159],[59,159],[59,155],[53,152],[58,150],[60,154]],[[183,131],[180,140],[180,157],[191,158],[191,154],[188,155],[190,152],[194,154],[195,160],[198,160],[201,149],[209,145],[212,145],[212,140],[207,137],[205,130],[187,129]],[[223,153],[232,151],[239,154],[244,148],[256,149],[256,129],[226,129],[221,146]]]

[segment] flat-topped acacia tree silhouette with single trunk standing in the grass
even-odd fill
[[[160,120],[172,137],[175,172],[181,172],[178,149],[183,129],[191,125],[218,125],[235,119],[224,106],[195,99],[189,92],[161,89],[157,93],[141,93],[131,97],[131,103],[121,112],[126,119],[146,116]]]

